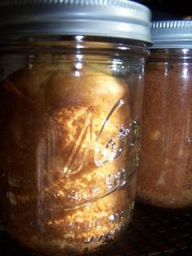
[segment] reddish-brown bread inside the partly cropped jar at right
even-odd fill
[[[192,205],[191,77],[185,64],[148,63],[137,199],[164,208]]]

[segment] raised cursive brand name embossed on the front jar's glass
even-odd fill
[[[124,148],[131,144],[128,138],[132,125],[124,117],[124,113],[129,112],[128,100],[118,100],[106,119],[101,122],[101,128],[96,134],[93,131],[94,117],[91,112],[86,112],[81,132],[63,166],[63,174],[69,177],[83,170],[87,157],[92,158],[88,154],[94,154],[93,162],[97,167],[120,157]]]

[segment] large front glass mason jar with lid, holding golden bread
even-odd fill
[[[40,254],[94,252],[133,212],[150,11],[123,0],[2,2],[5,227]]]

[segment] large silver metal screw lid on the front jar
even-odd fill
[[[151,42],[151,11],[128,0],[2,0],[0,36],[89,35]]]

